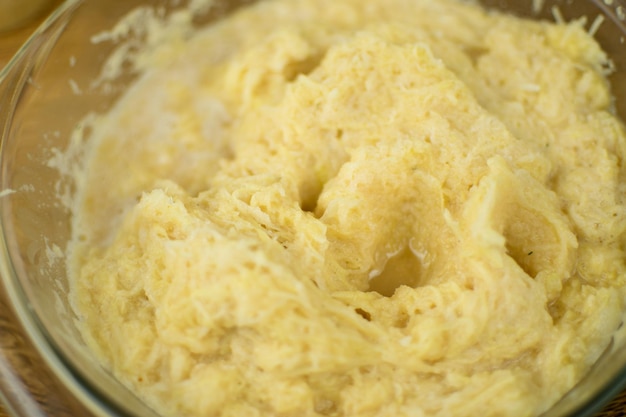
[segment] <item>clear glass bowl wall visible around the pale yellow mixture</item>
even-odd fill
[[[244,2],[219,2],[219,7],[196,23],[210,24]],[[72,130],[87,113],[110,108],[134,77],[125,74],[108,89],[89,89],[114,47],[106,42],[94,44],[91,37],[144,3],[150,2],[69,1],[0,73],[0,273],[12,307],[12,312],[0,311],[0,315],[17,317],[43,358],[46,372],[61,382],[66,395],[59,397],[64,404],[57,409],[58,415],[78,415],[76,410],[81,410],[98,416],[157,416],[94,361],[73,324],[65,265],[62,260],[50,262],[47,256],[55,248],[63,251],[70,237],[69,213],[57,196],[59,190],[71,192],[73,187],[48,161],[67,148]],[[170,8],[169,4],[177,2],[151,3]],[[552,7],[558,6],[566,20],[587,16],[588,25],[603,15],[596,38],[615,63],[611,77],[615,104],[626,120],[626,0],[546,0],[538,14],[533,5],[539,2],[533,0],[483,3],[549,20],[553,20]],[[74,94],[72,84],[82,87],[82,94]],[[0,352],[0,373],[4,373],[0,397],[5,397],[16,415],[46,415],[46,410],[27,406],[29,399],[32,404],[42,399],[33,399],[28,387],[11,385],[26,369],[9,369],[10,364],[2,360],[5,353]],[[618,334],[589,375],[545,416],[591,416],[625,382],[626,348]]]

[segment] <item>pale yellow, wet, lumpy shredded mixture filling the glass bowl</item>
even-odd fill
[[[534,416],[606,348],[626,140],[582,23],[266,0],[172,42],[93,124],[70,259],[163,415]]]

